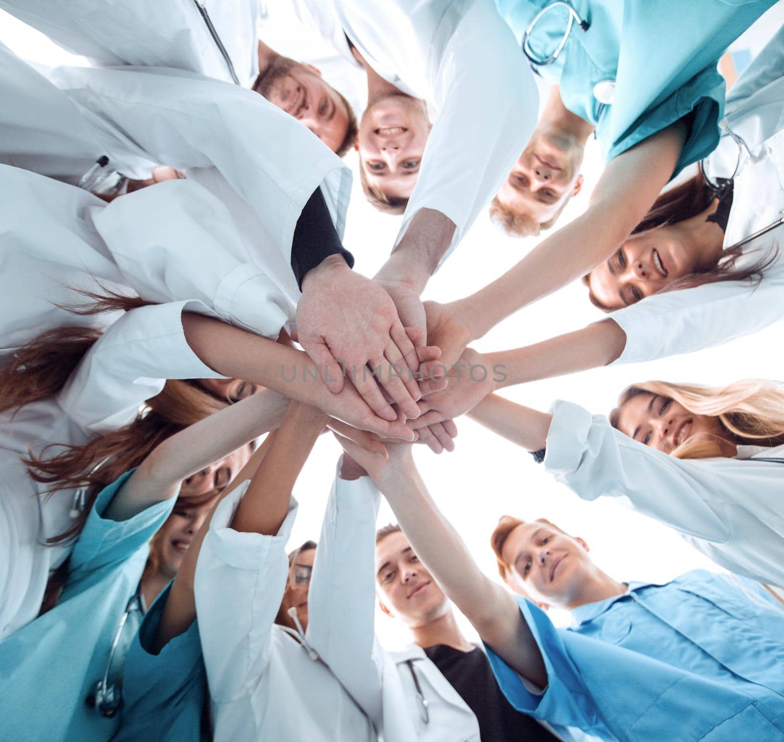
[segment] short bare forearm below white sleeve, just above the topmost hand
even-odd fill
[[[375,278],[408,282],[422,293],[454,234],[455,224],[447,216],[434,209],[419,209]]]

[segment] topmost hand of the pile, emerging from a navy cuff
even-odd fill
[[[329,256],[305,276],[296,317],[299,343],[317,364],[329,391],[338,394],[343,389],[345,369],[379,417],[397,417],[379,384],[405,416],[419,416],[419,384],[404,371],[419,369],[419,360],[381,286],[351,271],[342,256]],[[379,384],[373,376],[376,370]]]

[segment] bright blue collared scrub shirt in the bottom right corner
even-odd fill
[[[488,649],[518,711],[603,740],[784,740],[784,609],[734,578],[630,584],[573,610],[570,629],[517,600],[548,678],[534,693]]]

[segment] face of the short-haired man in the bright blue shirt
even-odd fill
[[[506,537],[501,558],[510,582],[536,601],[571,607],[594,571],[588,546],[550,523],[521,523]]]

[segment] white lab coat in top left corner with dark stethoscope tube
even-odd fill
[[[259,75],[259,0],[201,0],[240,85]],[[194,0],[0,0],[0,8],[96,66],[175,67],[233,82]]]

